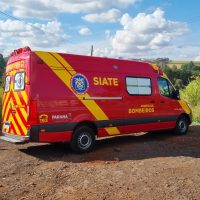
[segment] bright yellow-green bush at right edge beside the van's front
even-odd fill
[[[186,100],[193,111],[193,120],[200,122],[200,76],[191,81],[189,85],[181,91],[181,98]]]

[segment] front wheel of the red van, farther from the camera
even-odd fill
[[[176,135],[185,135],[189,128],[189,121],[187,117],[181,115],[177,122],[176,122],[176,128],[175,128],[175,134]]]

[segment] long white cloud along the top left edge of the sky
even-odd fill
[[[141,0],[1,0],[17,17],[52,18],[55,13],[96,13],[117,7],[125,8]]]

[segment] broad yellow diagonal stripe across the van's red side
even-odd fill
[[[93,114],[93,116],[97,120],[109,120],[108,116],[103,112],[103,110],[97,105],[97,103],[94,100],[85,101],[83,100],[84,97],[90,97],[88,93],[84,95],[78,95],[76,94],[70,85],[71,77],[73,74],[76,74],[77,72],[73,69],[73,67],[59,54],[52,53],[56,59],[48,52],[35,52],[50,68],[51,70],[62,80],[62,82],[74,93],[74,95],[85,105],[85,107]],[[56,70],[53,67],[63,67],[60,63],[62,63],[63,66],[67,70],[70,70],[70,73],[67,70]],[[64,67],[63,67],[64,68]],[[72,73],[72,74],[71,74]],[[120,131],[117,127],[111,127],[111,128],[105,128],[107,133],[109,135],[115,135],[120,134]]]

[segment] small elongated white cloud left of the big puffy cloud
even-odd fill
[[[121,11],[118,9],[110,9],[107,12],[102,12],[99,14],[88,14],[82,17],[85,21],[92,23],[113,23],[116,22],[121,17]]]

